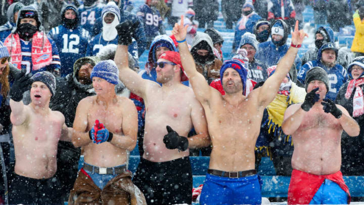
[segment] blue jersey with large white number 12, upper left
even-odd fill
[[[73,73],[73,63],[85,56],[89,32],[83,28],[68,29],[63,25],[52,28],[48,35],[55,41],[62,61],[61,76]]]

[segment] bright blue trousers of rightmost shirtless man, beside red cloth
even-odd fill
[[[335,182],[325,179],[309,204],[346,204],[347,193]]]

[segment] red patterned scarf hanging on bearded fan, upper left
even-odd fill
[[[11,63],[16,64],[21,69],[21,44],[18,33],[10,34],[4,41],[11,56]],[[31,58],[33,70],[38,70],[52,62],[52,45],[43,32],[36,32],[32,37]]]

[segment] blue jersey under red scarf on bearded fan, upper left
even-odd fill
[[[23,39],[20,39],[20,46],[21,46],[21,55],[22,55],[22,61],[21,61],[21,69],[26,69],[27,73],[36,73],[40,71],[50,71],[52,72],[54,69],[60,69],[61,68],[61,61],[58,55],[58,50],[55,42],[48,37],[48,40],[50,41],[52,45],[52,62],[51,64],[44,66],[38,70],[33,70],[33,63],[31,58],[31,49],[32,49],[32,42],[31,40],[29,42],[24,41]],[[15,65],[16,66],[16,65]]]

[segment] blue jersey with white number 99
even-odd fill
[[[148,5],[144,4],[139,8],[136,16],[141,18],[144,23],[144,31],[148,38],[154,38],[159,35],[159,27],[162,26],[162,17],[159,11],[153,10]]]

